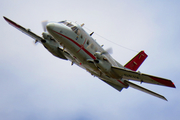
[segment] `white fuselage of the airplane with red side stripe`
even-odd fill
[[[117,63],[85,30],[76,23],[62,21],[48,23],[46,26],[50,35],[67,51],[66,56],[72,63],[86,69],[92,75],[102,80],[120,84],[126,87],[123,80],[111,71],[111,66],[123,67]],[[98,58],[98,60],[97,60]]]

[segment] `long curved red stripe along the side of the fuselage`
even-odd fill
[[[54,30],[53,30],[54,31]],[[65,35],[63,35],[63,34],[61,34],[61,33],[59,33],[59,32],[56,32],[56,31],[54,31],[55,33],[57,33],[57,34],[59,34],[59,35],[61,35],[61,36],[63,36],[63,37],[65,37],[66,39],[68,39],[68,40],[70,40],[71,42],[73,42],[75,45],[77,45],[78,47],[82,47],[80,44],[78,44],[77,42],[75,42],[73,39],[71,39],[71,38],[69,38],[69,37],[67,37],[67,36],[65,36]],[[81,48],[85,53],[87,53],[92,59],[96,59],[96,57],[93,55],[93,54],[91,54],[88,50],[86,50],[84,47],[82,47]]]

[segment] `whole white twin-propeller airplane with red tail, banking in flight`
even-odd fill
[[[88,34],[83,29],[84,24],[79,25],[67,20],[60,22],[44,21],[42,22],[44,32],[40,37],[30,29],[22,27],[5,16],[3,17],[10,25],[33,38],[35,43],[41,43],[52,55],[71,61],[71,65],[76,64],[85,69],[119,92],[123,88],[132,87],[167,101],[164,96],[131,81],[176,88],[169,79],[137,72],[137,69],[148,57],[144,51],[140,51],[124,66],[118,63],[111,57],[108,50],[104,50],[103,46],[92,38],[94,32]]]

